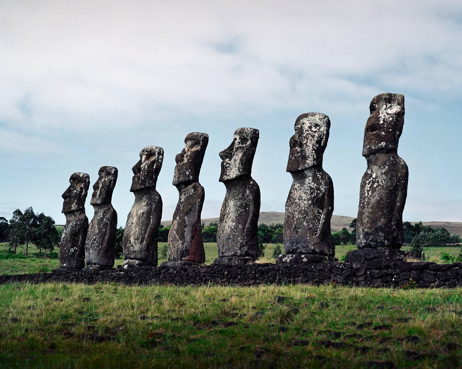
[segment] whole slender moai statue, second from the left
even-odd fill
[[[117,213],[111,199],[117,181],[117,168],[101,167],[98,174],[90,202],[95,214],[85,241],[85,262],[89,270],[104,270],[114,266]]]

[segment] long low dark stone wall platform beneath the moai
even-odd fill
[[[410,282],[412,279],[413,282]],[[305,265],[182,265],[126,266],[109,270],[57,269],[54,273],[0,276],[12,282],[117,282],[126,285],[172,284],[254,286],[260,284],[336,283],[339,286],[396,287],[414,282],[420,288],[462,286],[462,263],[403,262],[383,259],[365,263],[323,262]]]

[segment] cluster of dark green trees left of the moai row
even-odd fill
[[[44,213],[34,213],[32,207],[26,208],[24,213],[16,209],[10,220],[0,217],[0,242],[8,242],[14,254],[18,249],[23,249],[27,255],[29,246],[34,244],[39,256],[42,256],[44,251],[46,257],[47,253],[59,246],[60,239],[55,220]]]

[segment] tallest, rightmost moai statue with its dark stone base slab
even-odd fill
[[[408,171],[397,151],[404,124],[404,95],[377,95],[369,109],[363,144],[367,170],[361,180],[356,223],[359,250],[349,251],[345,261],[403,260],[408,255],[399,250]]]

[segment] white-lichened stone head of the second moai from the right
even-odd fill
[[[305,113],[295,120],[294,128],[286,171],[297,172],[322,164],[329,139],[329,117],[322,113]]]

